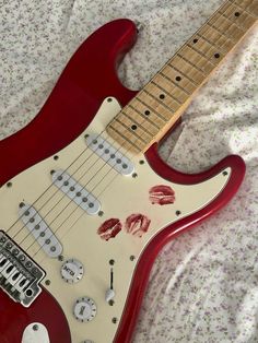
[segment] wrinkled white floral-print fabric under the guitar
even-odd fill
[[[125,84],[140,88],[222,2],[0,0],[0,139],[36,116],[73,51],[104,23],[130,17],[143,25],[119,71]],[[235,153],[247,174],[225,209],[161,251],[134,343],[258,342],[257,80],[256,27],[161,147],[163,158],[186,173]]]

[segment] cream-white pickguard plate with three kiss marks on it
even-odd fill
[[[95,119],[86,131],[79,137],[68,147],[58,153],[59,158],[52,157],[37,164],[28,170],[12,179],[12,187],[0,189],[0,227],[8,229],[17,221],[19,203],[22,201],[33,204],[35,200],[51,185],[50,170],[66,169],[74,158],[85,150],[86,143],[84,134],[95,134],[104,130],[110,119],[119,111],[120,107],[116,99],[105,100]],[[36,203],[37,210],[42,208],[40,215],[56,232],[58,239],[63,247],[64,260],[77,259],[82,262],[85,274],[75,284],[66,283],[60,275],[60,268],[63,262],[58,259],[48,258],[39,246],[35,243],[28,253],[46,271],[47,279],[50,280],[48,291],[59,301],[70,324],[72,343],[81,343],[84,340],[92,340],[94,343],[110,343],[114,340],[119,319],[124,310],[130,282],[136,264],[148,243],[168,224],[195,213],[212,201],[225,187],[231,169],[227,175],[220,173],[218,176],[199,185],[177,185],[162,179],[148,165],[144,155],[130,156],[134,164],[137,177],[117,175],[110,170],[105,162],[96,155],[87,155],[87,173],[84,184],[91,179],[87,187],[97,190],[97,199],[102,204],[103,216],[89,215],[74,202],[70,202],[68,197],[57,188],[52,188],[49,193],[52,198],[48,200],[45,194]],[[95,164],[95,161],[98,158]],[[139,161],[144,161],[140,164]],[[79,158],[71,167],[70,173],[74,173],[82,163]],[[89,166],[92,166],[89,169]],[[97,172],[102,167],[101,172]],[[84,170],[85,172],[85,170]],[[101,181],[106,175],[104,181]],[[82,172],[77,172],[77,177],[83,176]],[[82,182],[82,181],[80,181]],[[169,186],[175,191],[175,203],[167,205],[152,204],[149,200],[149,191],[153,186]],[[52,201],[55,200],[55,206]],[[46,203],[46,204],[45,204]],[[63,211],[66,208],[66,211]],[[176,215],[180,211],[180,215]],[[58,220],[55,220],[57,214]],[[126,218],[136,213],[146,215],[151,221],[149,230],[142,237],[128,234],[124,228],[115,237],[105,241],[97,235],[97,228],[108,218],[119,218],[122,225]],[[10,236],[14,236],[22,227],[22,222],[17,222],[10,230]],[[23,229],[14,239],[19,243],[27,235],[27,229]],[[27,249],[34,243],[34,237],[25,239],[23,249]],[[132,261],[130,256],[134,256]],[[106,292],[109,287],[110,265],[109,260],[114,259],[114,289],[115,304],[109,306],[106,300]],[[1,292],[1,291],[0,291]],[[97,314],[91,322],[79,322],[73,316],[73,306],[78,298],[87,296],[94,299]],[[117,323],[112,320],[116,317]]]

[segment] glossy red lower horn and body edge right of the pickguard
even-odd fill
[[[125,307],[122,320],[117,331],[115,340],[116,343],[131,342],[131,336],[136,326],[137,317],[140,311],[140,305],[142,303],[149,274],[155,257],[160,252],[161,248],[164,247],[169,240],[184,233],[186,229],[191,228],[194,225],[203,221],[206,217],[224,206],[239,188],[245,175],[245,163],[239,156],[236,155],[227,156],[211,169],[194,175],[187,175],[177,172],[166,165],[157,154],[157,144],[152,145],[145,153],[145,156],[150,165],[160,176],[178,184],[192,185],[201,182],[211,178],[212,176],[218,175],[226,167],[232,168],[232,175],[226,187],[218,198],[215,198],[200,211],[163,228],[163,230],[156,235],[148,245],[134,271],[133,282],[127,298],[127,305]]]

